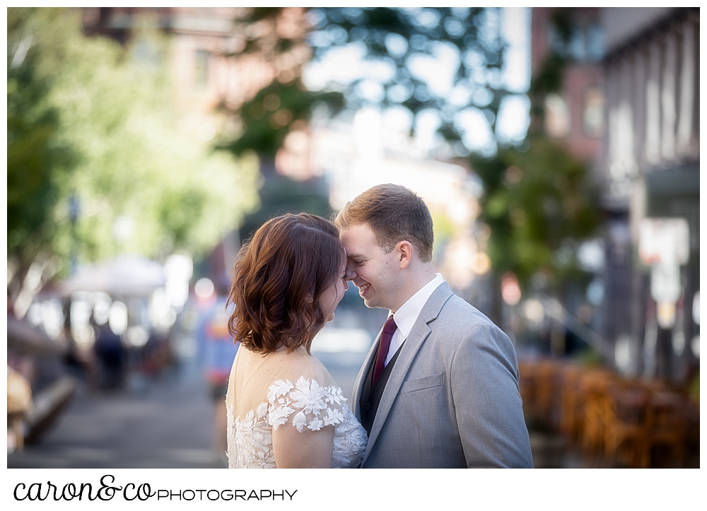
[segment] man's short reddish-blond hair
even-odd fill
[[[421,262],[431,262],[434,234],[430,210],[415,192],[399,184],[378,184],[357,196],[334,218],[343,233],[366,224],[386,252],[397,242],[411,242]]]

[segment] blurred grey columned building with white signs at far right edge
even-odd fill
[[[605,336],[627,374],[686,382],[699,370],[699,9],[601,18]]]

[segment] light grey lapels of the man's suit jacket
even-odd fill
[[[407,339],[405,339],[402,348],[400,348],[400,353],[397,361],[395,362],[395,366],[393,366],[393,369],[390,372],[390,377],[388,378],[383,394],[380,397],[380,404],[378,404],[378,411],[375,413],[373,427],[370,429],[368,447],[366,447],[366,454],[363,455],[363,460],[361,461],[362,464],[366,462],[366,459],[368,459],[368,454],[370,454],[373,445],[375,445],[375,441],[378,440],[378,435],[383,428],[383,424],[385,424],[385,421],[387,420],[388,413],[390,413],[390,409],[392,408],[392,405],[400,392],[400,387],[402,387],[402,384],[405,381],[405,377],[407,376],[407,373],[409,372],[410,367],[417,356],[417,352],[432,331],[429,324],[437,319],[437,315],[440,310],[442,310],[443,305],[452,295],[452,290],[450,290],[446,282],[441,283],[438,288],[434,290],[430,298],[428,298],[427,303],[425,303],[424,307],[422,307],[420,315],[417,317],[417,320],[408,334]],[[378,334],[378,338],[380,338],[380,334]],[[366,364],[364,364],[364,368],[366,369],[368,369],[370,359],[372,359],[371,353],[375,354],[375,348],[378,348],[378,338],[376,339],[376,342],[373,343],[372,351],[368,353]],[[359,397],[361,394],[361,385],[359,384],[359,380],[361,382],[363,381],[363,377],[361,376],[362,373],[363,377],[365,377],[366,372],[362,370],[362,372],[358,373],[358,378],[356,379]]]

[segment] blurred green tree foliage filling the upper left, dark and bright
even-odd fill
[[[42,254],[64,269],[72,253],[198,257],[255,206],[255,156],[180,129],[168,60],[148,30],[122,48],[84,37],[75,11],[8,8],[8,260],[20,278]],[[115,235],[117,219],[132,235]]]

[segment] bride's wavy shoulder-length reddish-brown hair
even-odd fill
[[[264,223],[238,252],[228,303],[228,331],[263,355],[305,346],[326,323],[322,292],[346,262],[339,230],[325,218],[286,214]]]

